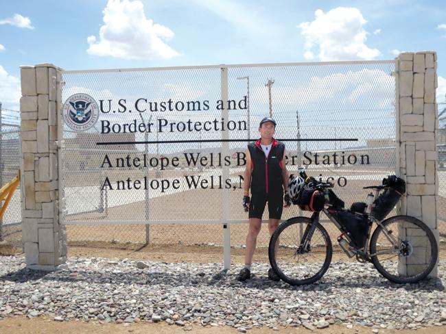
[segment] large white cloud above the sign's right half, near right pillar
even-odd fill
[[[322,61],[373,60],[381,55],[378,49],[371,49],[365,44],[366,20],[357,8],[338,7],[327,13],[316,10],[314,14],[314,21],[298,25],[305,38],[306,56],[314,53],[315,49]]]

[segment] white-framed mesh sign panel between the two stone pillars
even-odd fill
[[[394,70],[381,61],[65,72],[64,101],[84,93],[99,104],[93,128],[63,129],[69,241],[221,245],[224,219],[242,246],[244,153],[270,112],[275,137],[290,140],[290,173],[303,164],[331,177],[347,206],[364,201],[363,186],[395,172]],[[268,240],[263,227],[257,244]]]

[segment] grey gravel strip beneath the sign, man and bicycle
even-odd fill
[[[233,326],[379,329],[446,326],[445,270],[439,279],[396,285],[371,264],[335,262],[314,285],[269,281],[266,264],[240,283],[241,266],[71,258],[57,272],[27,270],[23,257],[0,257],[0,318],[45,316],[56,321],[166,322]]]

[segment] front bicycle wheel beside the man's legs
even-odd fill
[[[320,279],[331,262],[331,240],[321,224],[306,247],[303,235],[313,224],[307,217],[294,217],[277,227],[271,236],[268,255],[272,268],[291,285],[311,284]],[[305,249],[304,249],[305,248]]]

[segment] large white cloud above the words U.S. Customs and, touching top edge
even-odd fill
[[[146,18],[141,1],[108,0],[104,9],[104,25],[99,29],[99,40],[86,40],[91,55],[124,59],[169,59],[180,55],[165,41],[174,32]]]

